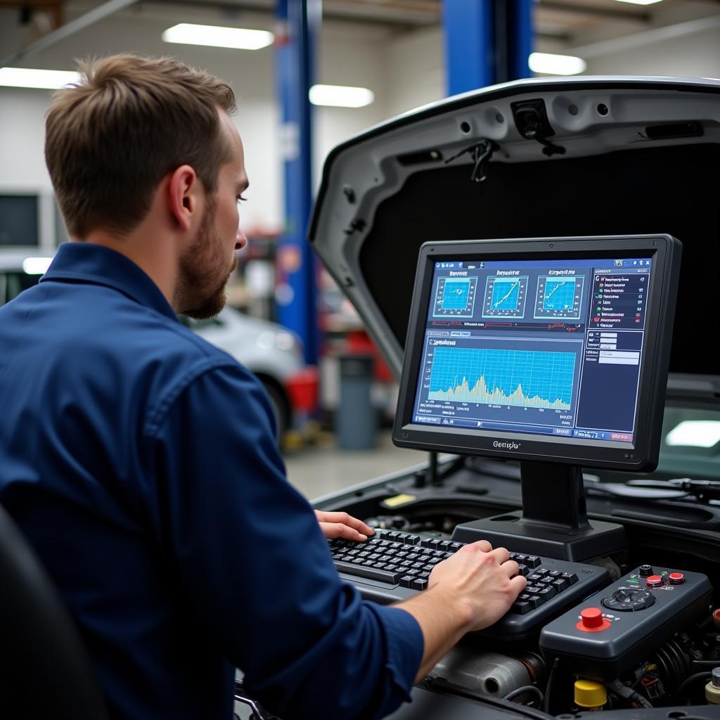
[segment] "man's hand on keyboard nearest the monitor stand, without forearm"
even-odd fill
[[[469,629],[482,630],[503,617],[525,589],[527,580],[518,572],[504,547],[493,550],[487,540],[480,540],[438,562],[428,589],[450,590],[465,606]]]

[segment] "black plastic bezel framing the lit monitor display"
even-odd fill
[[[541,459],[585,467],[647,470],[657,466],[662,410],[672,328],[680,275],[680,242],[671,235],[605,235],[575,238],[508,238],[503,240],[443,240],[420,247],[415,288],[410,307],[405,360],[402,365],[397,413],[392,439],[397,446],[428,451],[474,454],[503,459]],[[589,441],[581,438],[531,433],[502,433],[413,423],[415,391],[423,361],[426,319],[436,262],[562,260],[594,258],[651,258],[649,297],[645,315],[644,361],[640,369],[633,444]],[[493,442],[518,448],[500,448]]]

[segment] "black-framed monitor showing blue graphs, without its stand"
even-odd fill
[[[669,235],[426,243],[395,441],[657,462],[679,260]]]

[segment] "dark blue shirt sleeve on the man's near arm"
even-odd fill
[[[215,367],[165,405],[146,430],[159,532],[248,691],[284,720],[369,720],[408,700],[420,627],[338,576],[310,504],[287,481],[257,379]]]

